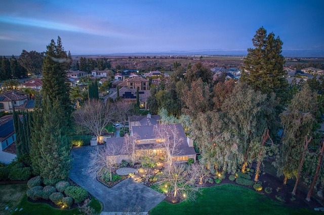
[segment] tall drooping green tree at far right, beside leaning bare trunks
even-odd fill
[[[316,124],[316,93],[308,85],[294,95],[287,111],[280,115],[284,126],[284,135],[279,147],[279,154],[273,165],[278,176],[285,176],[284,184],[289,178],[296,176],[299,168],[304,139],[312,135]]]

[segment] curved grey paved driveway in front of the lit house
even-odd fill
[[[103,204],[103,211],[123,212],[140,208],[140,211],[147,212],[163,201],[165,195],[134,182],[132,178],[128,178],[112,188],[108,188],[96,179],[91,178],[86,169],[89,151],[93,150],[94,147],[103,146],[82,146],[72,149],[73,161],[69,178],[95,196]]]

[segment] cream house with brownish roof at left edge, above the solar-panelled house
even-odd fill
[[[0,111],[12,112],[13,106],[20,106],[28,100],[26,94],[21,94],[18,90],[10,90],[0,94]]]

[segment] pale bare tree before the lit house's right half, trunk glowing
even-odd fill
[[[156,125],[154,126],[156,148],[163,148],[165,151],[165,160],[168,161],[169,167],[172,166],[172,157],[183,154],[180,145],[185,141],[180,137],[176,125]]]

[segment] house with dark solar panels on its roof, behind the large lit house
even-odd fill
[[[140,108],[147,109],[147,98],[150,96],[149,90],[139,90],[139,100],[140,100]],[[127,87],[121,87],[119,89],[119,97],[123,98],[123,100],[128,101],[129,103],[136,103],[136,89],[129,89]],[[117,98],[117,91],[106,95],[104,97],[104,102],[107,102],[108,98],[112,98],[115,100]]]

